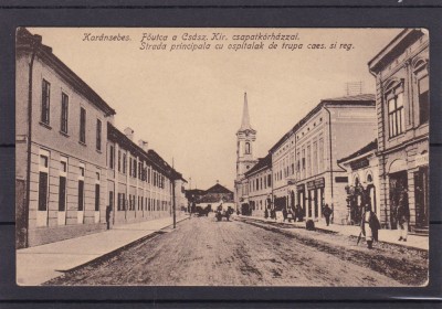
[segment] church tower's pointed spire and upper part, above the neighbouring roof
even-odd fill
[[[244,107],[242,110],[241,127],[236,132],[236,181],[257,163],[255,158],[256,131],[250,125],[248,94],[244,93]]]

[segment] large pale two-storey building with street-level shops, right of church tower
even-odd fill
[[[375,129],[373,95],[323,99],[270,150],[275,209],[298,204],[317,221],[328,204],[345,224],[348,180],[337,159],[372,140]]]

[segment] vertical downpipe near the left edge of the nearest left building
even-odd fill
[[[27,161],[27,202],[24,210],[24,219],[25,219],[25,241],[24,247],[29,247],[29,210],[30,210],[30,196],[31,196],[31,140],[32,140],[32,79],[33,79],[33,66],[36,54],[36,49],[40,45],[39,38],[32,39],[32,55],[31,62],[29,64],[29,81],[28,81],[28,161]]]

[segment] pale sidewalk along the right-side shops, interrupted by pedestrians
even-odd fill
[[[249,216],[243,216],[249,217]],[[251,219],[260,220],[263,222],[275,222],[271,219],[250,216]],[[294,227],[304,227],[305,222],[284,222],[284,224],[292,224]],[[327,226],[325,222],[319,221],[315,222],[316,230],[330,231],[335,233],[339,233],[346,236],[359,236],[360,227],[358,225],[340,225],[340,224],[330,224]],[[364,236],[362,236],[364,237]],[[428,236],[418,236],[418,235],[408,235],[407,242],[399,242],[399,233],[396,230],[379,230],[379,242],[389,243],[394,245],[400,245],[404,247],[413,247],[418,249],[429,251],[429,237]]]

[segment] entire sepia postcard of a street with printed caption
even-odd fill
[[[425,287],[429,31],[15,31],[19,286]]]

